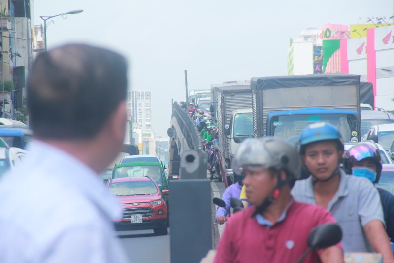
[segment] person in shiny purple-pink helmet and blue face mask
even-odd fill
[[[379,151],[370,143],[359,143],[350,148],[343,157],[343,168],[347,174],[365,177],[373,184],[379,183],[382,162]],[[394,196],[377,188],[382,202],[386,232],[391,242],[394,241]]]

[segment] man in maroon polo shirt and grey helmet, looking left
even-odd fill
[[[292,199],[299,179],[299,155],[287,142],[273,137],[248,139],[234,157],[252,207],[234,214],[218,244],[215,263],[292,263],[307,250],[309,232],[335,222],[325,209]],[[340,244],[312,251],[303,263],[342,263]]]

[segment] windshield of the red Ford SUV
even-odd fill
[[[152,181],[117,182],[109,185],[109,193],[118,196],[154,194],[158,190]]]

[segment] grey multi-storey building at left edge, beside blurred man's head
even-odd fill
[[[25,77],[33,63],[33,0],[0,0],[0,116],[26,122]]]

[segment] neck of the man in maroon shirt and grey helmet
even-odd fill
[[[291,200],[290,188],[286,185],[281,189],[278,199],[263,211],[262,216],[272,224],[275,224],[282,216]]]

